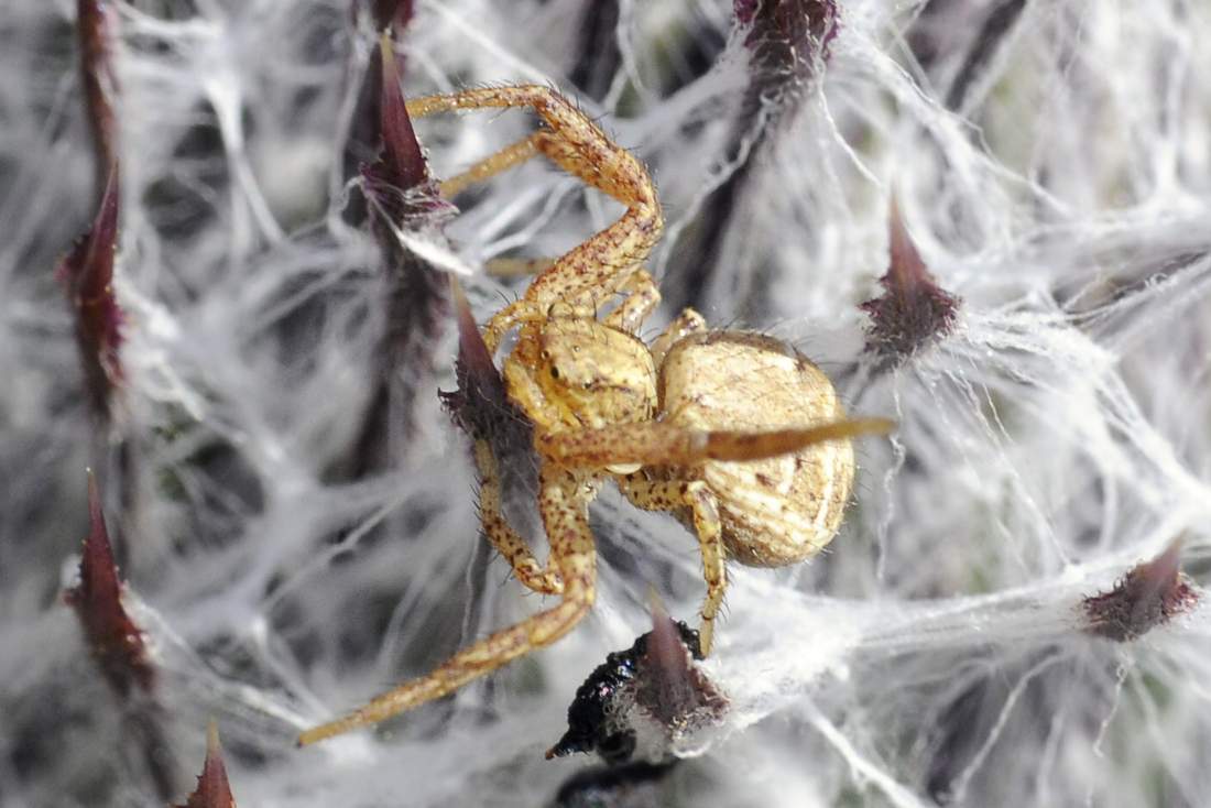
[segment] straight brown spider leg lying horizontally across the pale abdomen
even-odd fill
[[[604,469],[629,464],[694,465],[704,460],[758,460],[798,452],[814,443],[890,431],[884,418],[834,420],[819,426],[770,431],[707,431],[668,422],[610,424],[599,429],[535,435],[534,447],[568,468]]]

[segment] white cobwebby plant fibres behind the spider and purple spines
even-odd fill
[[[96,213],[76,4],[0,15],[0,806],[184,802],[211,720],[245,808],[557,804],[599,763],[543,752],[578,684],[650,629],[649,588],[696,623],[694,535],[606,486],[597,604],[568,637],[295,749],[555,601],[480,534],[470,441],[437,397],[448,306],[409,338],[423,355],[385,386],[377,369],[388,299],[420,292],[350,213],[373,157],[355,143],[368,4],[107,5],[125,313],[108,423],[53,276]],[[1207,608],[1112,642],[1081,603],[1178,539],[1195,588],[1211,569],[1211,8],[837,6],[827,47],[808,36],[781,74],[724,0],[418,0],[396,30],[406,96],[546,84],[645,162],[667,228],[644,337],[694,305],[897,422],[857,442],[825,552],[729,566],[705,663],[723,724],[599,804],[1207,804]],[[415,122],[437,177],[533,125]],[[859,304],[883,291],[893,199],[962,303],[948,334],[872,369]],[[443,233],[401,235],[481,323],[527,283],[486,262],[557,256],[621,212],[541,160],[457,202]],[[142,704],[63,600],[87,468],[155,670]]]

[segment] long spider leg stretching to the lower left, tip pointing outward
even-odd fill
[[[299,735],[300,746],[385,721],[440,699],[517,657],[551,644],[584,618],[593,604],[597,566],[593,537],[589,531],[587,500],[574,475],[562,470],[552,474],[553,479],[544,475],[539,508],[551,537],[551,557],[563,579],[563,601],[464,648],[429,675],[404,682],[343,718],[308,729]]]

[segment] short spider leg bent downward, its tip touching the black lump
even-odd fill
[[[706,598],[702,601],[702,624],[699,642],[702,655],[711,654],[714,637],[714,618],[723,604],[728,577],[724,567],[723,526],[719,522],[719,504],[711,489],[701,480],[648,480],[645,475],[631,474],[619,480],[619,488],[636,508],[643,510],[677,510],[688,506],[694,516],[702,554],[702,579],[706,581]]]

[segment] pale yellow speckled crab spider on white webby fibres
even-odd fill
[[[769,337],[707,331],[690,310],[650,348],[635,337],[660,299],[642,268],[664,227],[655,188],[638,160],[553,90],[467,90],[407,107],[414,118],[530,107],[549,127],[444,183],[446,195],[541,153],[627,210],[551,263],[483,331],[494,353],[518,327],[504,379],[509,399],[534,424],[546,566],[503,517],[497,459],[480,439],[475,455],[484,533],[522,584],[559,596],[559,603],[460,651],[427,676],[304,732],[300,744],[437,699],[567,634],[593,603],[596,550],[587,508],[610,476],[637,506],[673,511],[698,533],[707,653],[724,594],[724,557],[773,567],[816,554],[837,532],[850,495],[848,439],[889,426],[882,419],[844,420],[828,378]],[[625,294],[622,302],[598,319],[616,293]]]

